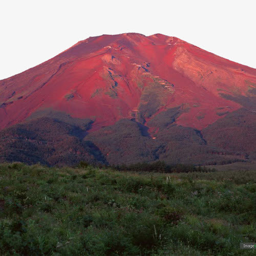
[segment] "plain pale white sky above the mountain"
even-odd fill
[[[0,0],[0,80],[90,36],[176,36],[256,68],[255,0]]]

